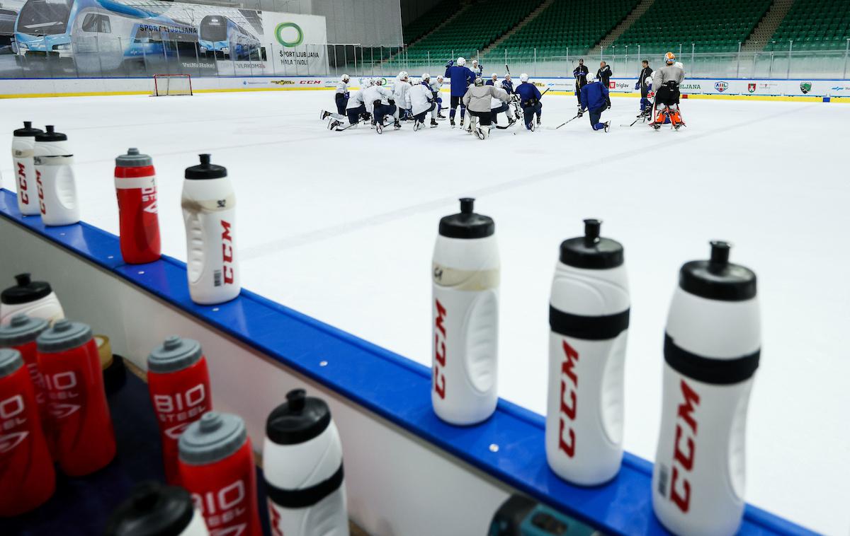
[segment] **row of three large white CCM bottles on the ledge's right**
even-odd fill
[[[630,298],[621,243],[586,220],[565,240],[549,302],[548,465],[581,486],[608,483],[623,456]],[[496,226],[461,199],[439,221],[433,253],[433,410],[473,425],[496,410],[499,250]],[[734,534],[744,511],[745,422],[757,369],[756,275],[729,244],[679,271],[664,335],[661,427],[652,503],[673,533]]]

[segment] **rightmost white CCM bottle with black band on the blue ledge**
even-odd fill
[[[728,243],[712,242],[711,260],[685,263],[667,316],[652,505],[680,535],[731,536],[744,514],[761,319],[756,274],[728,257]]]

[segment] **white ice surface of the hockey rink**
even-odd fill
[[[113,159],[153,155],[163,249],[185,259],[183,170],[197,154],[228,168],[238,200],[242,282],[308,315],[430,365],[430,260],[456,198],[496,219],[502,260],[500,394],[546,407],[547,300],[558,244],[604,220],[626,247],[632,326],[626,449],[652,460],[666,310],[707,242],[759,277],[762,364],[747,427],[746,499],[823,533],[850,527],[850,106],[689,100],[683,131],[630,123],[616,98],[608,134],[587,118],[558,131],[447,121],[377,136],[329,132],[331,92],[0,101],[0,147],[21,120],[69,135],[85,221],[117,233]],[[543,99],[552,128],[575,98]],[[0,153],[3,187],[14,189]],[[33,268],[37,272],[37,268]]]

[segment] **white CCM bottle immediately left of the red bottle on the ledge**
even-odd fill
[[[74,180],[74,154],[68,137],[53,125],[36,134],[32,160],[36,168],[39,209],[46,226],[69,226],[80,221],[80,203]]]

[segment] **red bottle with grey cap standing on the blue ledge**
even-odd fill
[[[160,258],[153,160],[139,149],[127,149],[115,159],[115,188],[121,229],[121,254],[131,265]]]

